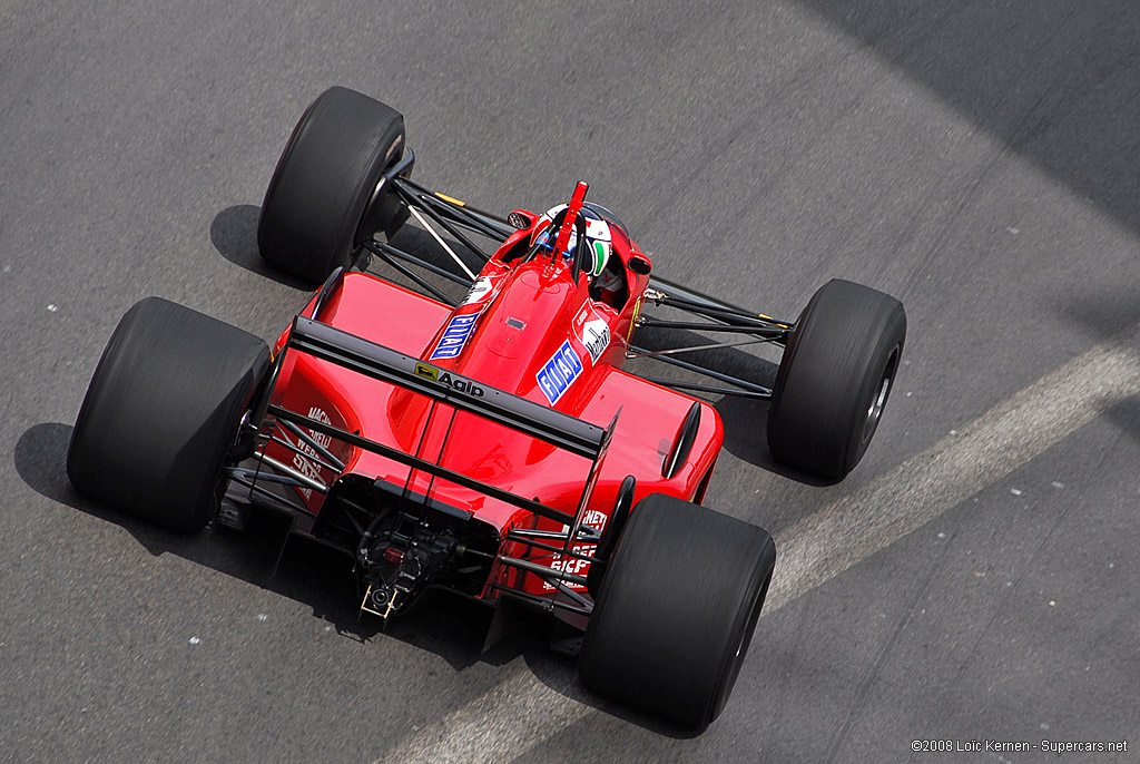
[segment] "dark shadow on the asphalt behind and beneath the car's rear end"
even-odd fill
[[[176,554],[238,578],[312,609],[336,633],[359,642],[396,639],[432,652],[456,670],[477,663],[504,665],[527,652],[545,651],[548,634],[520,629],[482,652],[492,611],[446,592],[426,592],[386,628],[359,610],[351,560],[343,553],[306,542],[288,533],[288,522],[275,512],[254,512],[245,531],[210,527],[185,536],[84,498],[66,473],[72,426],[46,422],[17,440],[15,466],[34,491],[127,530],[150,554]]]

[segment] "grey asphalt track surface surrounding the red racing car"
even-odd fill
[[[1129,0],[0,1],[0,759],[1134,761],[1138,50]],[[905,303],[845,482],[717,404],[707,503],[781,558],[705,734],[591,696],[537,627],[480,656],[486,613],[449,598],[358,621],[335,558],[291,543],[274,572],[271,522],[185,538],[70,488],[136,300],[264,338],[303,303],[256,205],[334,83],[479,206],[587,180],[665,277],[791,317],[834,276]]]

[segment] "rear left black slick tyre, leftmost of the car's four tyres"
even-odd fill
[[[158,298],[137,302],[88,387],[67,477],[89,498],[172,530],[201,530],[268,368],[260,338]]]

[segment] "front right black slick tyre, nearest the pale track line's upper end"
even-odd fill
[[[768,448],[817,478],[841,479],[871,442],[906,339],[895,298],[834,279],[812,296],[788,339],[768,409]]]

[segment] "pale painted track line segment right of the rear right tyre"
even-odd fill
[[[1134,324],[780,534],[765,610],[894,544],[1140,393],[1138,347]]]

